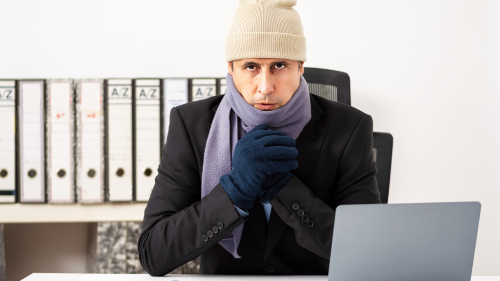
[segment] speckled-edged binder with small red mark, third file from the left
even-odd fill
[[[73,81],[47,80],[47,197],[49,203],[74,203]]]

